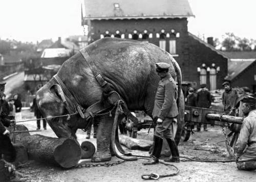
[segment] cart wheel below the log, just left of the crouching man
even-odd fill
[[[226,127],[226,134],[227,134],[227,141],[226,141],[226,148],[230,156],[234,156],[236,153],[236,144],[239,137],[239,132],[230,131]]]

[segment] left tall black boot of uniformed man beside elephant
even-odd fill
[[[154,136],[154,149],[152,152],[152,156],[150,160],[147,162],[143,163],[143,165],[153,165],[153,164],[158,164],[159,163],[159,157],[162,151],[162,145],[163,145],[163,139]]]

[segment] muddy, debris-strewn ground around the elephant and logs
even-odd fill
[[[24,119],[34,118],[29,110],[23,111]],[[24,123],[30,130],[36,129],[36,121]],[[41,123],[42,126],[42,123]],[[187,142],[181,142],[178,146],[180,155],[186,157],[199,157],[213,160],[230,160],[225,138],[220,126],[209,126],[208,131],[195,132]],[[140,139],[152,139],[153,130],[146,135],[147,130],[142,129],[138,133]],[[56,137],[51,128],[36,132],[38,134]],[[35,134],[31,133],[31,134]],[[86,133],[82,130],[77,132],[79,143],[86,139]],[[89,139],[96,144],[95,139]],[[134,154],[148,155],[147,151],[132,151]],[[205,163],[185,162],[181,158],[180,163],[172,163],[180,169],[178,175],[161,178],[158,181],[255,181],[256,171],[239,171],[236,163]],[[113,157],[111,163],[120,161]],[[29,161],[17,169],[18,172],[27,175],[27,181],[143,181],[142,174],[158,173],[168,174],[175,172],[172,167],[163,164],[143,166],[144,160],[125,162],[112,167],[91,167],[61,169],[56,166]],[[82,163],[90,163],[84,161]],[[94,163],[95,164],[95,163]]]

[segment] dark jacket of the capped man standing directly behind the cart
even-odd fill
[[[211,105],[211,96],[208,89],[198,89],[197,93],[197,107],[209,108]]]

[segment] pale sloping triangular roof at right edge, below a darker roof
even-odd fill
[[[248,66],[256,63],[256,59],[231,59],[228,61],[228,75],[225,80],[231,81],[241,74]]]

